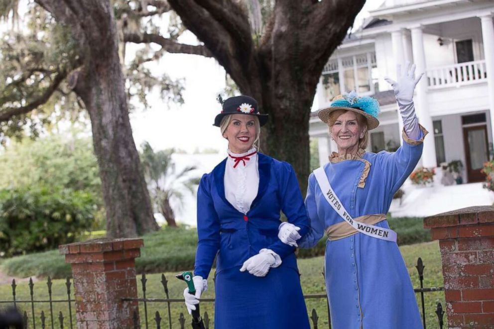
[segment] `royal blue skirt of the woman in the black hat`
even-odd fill
[[[271,268],[265,277],[221,271],[215,281],[216,329],[310,329],[300,277],[289,267]]]

